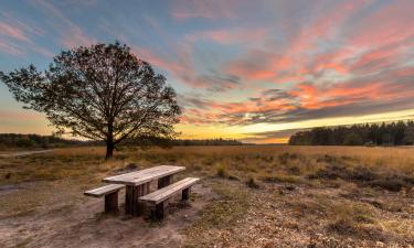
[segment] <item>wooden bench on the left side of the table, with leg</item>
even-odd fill
[[[93,197],[105,196],[105,213],[117,213],[118,212],[118,192],[125,187],[121,184],[109,184],[102,187],[97,187],[91,191],[86,191],[84,195]]]

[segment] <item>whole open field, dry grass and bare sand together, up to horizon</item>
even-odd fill
[[[360,147],[57,149],[0,158],[0,247],[413,247],[414,150]],[[200,176],[161,223],[83,196],[158,164]],[[123,194],[119,194],[123,196]],[[119,198],[123,204],[124,198]]]

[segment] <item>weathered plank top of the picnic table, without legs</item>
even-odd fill
[[[149,168],[140,171],[129,172],[121,175],[114,175],[103,179],[105,183],[125,184],[137,186],[144,183],[148,183],[152,180],[157,180],[167,175],[172,175],[178,172],[184,171],[184,166],[176,165],[159,165]]]

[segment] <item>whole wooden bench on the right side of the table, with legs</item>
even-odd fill
[[[177,183],[164,186],[158,191],[139,197],[139,202],[148,203],[155,206],[152,211],[152,216],[157,218],[162,218],[164,216],[166,209],[168,207],[167,200],[172,195],[181,192],[182,200],[187,201],[190,197],[191,186],[194,185],[200,179],[187,177]]]

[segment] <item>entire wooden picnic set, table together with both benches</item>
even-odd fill
[[[109,185],[87,191],[84,194],[94,197],[105,195],[105,212],[117,212],[118,192],[125,187],[125,213],[127,215],[140,216],[146,204],[150,204],[153,206],[153,215],[163,217],[168,206],[167,200],[178,192],[182,193],[183,201],[188,200],[190,187],[199,181],[199,179],[188,177],[171,184],[173,174],[184,170],[184,166],[159,165],[108,176],[103,179],[103,182],[110,183]],[[150,193],[150,183],[156,180],[158,180],[158,190]]]

